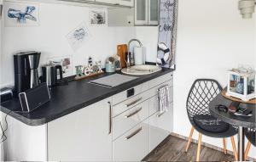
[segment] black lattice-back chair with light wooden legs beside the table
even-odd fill
[[[218,81],[211,79],[198,79],[190,88],[186,106],[192,128],[185,151],[187,152],[189,149],[194,130],[199,131],[196,161],[199,161],[200,157],[202,134],[207,137],[223,138],[224,154],[227,154],[225,138],[230,137],[235,159],[238,159],[234,140],[237,128],[213,117],[208,108],[212,99],[222,90],[223,88],[219,85]]]

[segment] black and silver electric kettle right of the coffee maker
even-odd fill
[[[42,67],[42,82],[45,82],[47,86],[54,87],[58,81],[63,79],[62,66],[47,64]]]

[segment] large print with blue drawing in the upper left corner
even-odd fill
[[[6,27],[39,25],[38,3],[4,2],[3,8]]]

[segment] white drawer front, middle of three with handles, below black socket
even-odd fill
[[[113,139],[121,136],[143,120],[148,118],[148,101],[125,111],[113,118]]]

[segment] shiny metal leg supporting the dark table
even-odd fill
[[[238,160],[244,161],[244,131],[242,126],[238,128]]]

